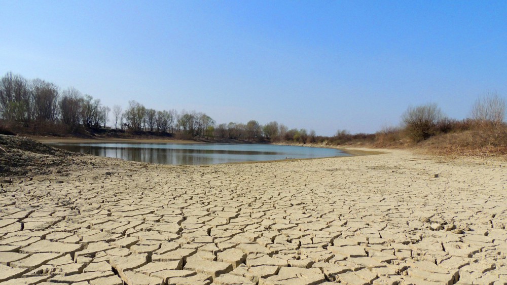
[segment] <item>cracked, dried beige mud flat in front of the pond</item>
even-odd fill
[[[0,281],[507,280],[505,161],[390,150],[209,166],[79,160],[2,183]]]

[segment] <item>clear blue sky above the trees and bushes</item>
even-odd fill
[[[505,1],[5,1],[0,74],[112,107],[374,132],[507,96]]]

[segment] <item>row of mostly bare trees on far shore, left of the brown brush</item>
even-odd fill
[[[111,115],[111,120],[110,120]],[[283,124],[244,123],[216,124],[202,112],[147,109],[129,101],[126,110],[114,105],[111,109],[100,99],[82,94],[73,87],[61,89],[42,79],[28,80],[7,73],[0,80],[0,125],[17,132],[39,134],[70,134],[106,129],[111,122],[114,130],[142,134],[171,134],[177,138],[230,138],[249,141],[288,140],[316,142],[314,130],[288,129]]]

